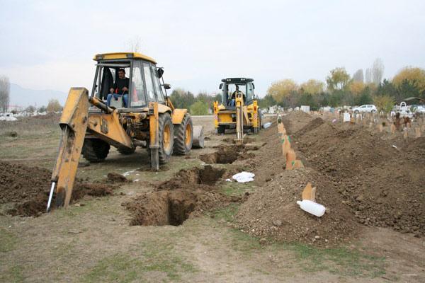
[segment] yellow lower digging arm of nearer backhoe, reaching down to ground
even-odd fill
[[[89,91],[86,88],[71,88],[60,118],[62,137],[52,173],[52,190],[57,184],[57,207],[67,207],[71,200],[79,157],[86,135],[88,115]],[[51,200],[52,191],[47,204],[47,211]]]

